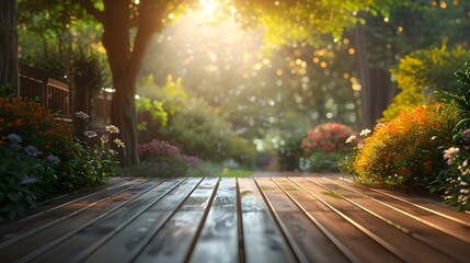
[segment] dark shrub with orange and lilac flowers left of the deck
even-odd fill
[[[116,132],[110,127],[110,133]],[[96,136],[92,130],[84,135]],[[105,138],[90,147],[38,103],[0,96],[0,217],[22,215],[61,190],[103,183],[117,164]]]

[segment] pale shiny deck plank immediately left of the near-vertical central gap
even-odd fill
[[[191,262],[239,262],[236,179],[222,179]]]

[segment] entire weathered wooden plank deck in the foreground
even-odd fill
[[[470,215],[340,176],[126,179],[0,226],[1,262],[469,262]]]

